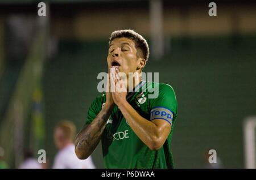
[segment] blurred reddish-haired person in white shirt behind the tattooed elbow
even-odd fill
[[[94,169],[92,158],[80,160],[75,153],[73,140],[76,135],[76,126],[71,121],[63,121],[56,126],[54,140],[59,152],[53,162],[54,169]]]

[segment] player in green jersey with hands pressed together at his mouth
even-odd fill
[[[148,56],[147,41],[138,33],[112,33],[107,57],[111,68],[108,88],[116,88],[119,83],[127,92],[106,91],[92,102],[86,126],[76,136],[77,157],[89,157],[101,140],[106,168],[174,168],[171,137],[177,100],[170,85],[142,81]],[[119,72],[126,74],[126,80]],[[139,76],[129,77],[129,72]],[[133,82],[132,88],[129,82]],[[150,88],[158,88],[159,95],[149,98]]]

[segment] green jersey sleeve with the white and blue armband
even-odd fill
[[[168,84],[159,84],[159,95],[151,100],[150,121],[163,119],[172,125],[177,116],[177,100],[174,89]]]

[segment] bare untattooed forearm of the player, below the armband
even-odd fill
[[[160,140],[162,130],[158,126],[148,121],[139,115],[136,110],[127,102],[124,101],[118,105],[121,110],[123,117],[127,120],[130,127],[133,129],[135,134],[146,144],[150,149],[157,150],[162,144]]]

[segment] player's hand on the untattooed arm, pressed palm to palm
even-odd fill
[[[114,72],[110,72],[110,88],[112,89],[112,97],[114,103],[118,106],[120,103],[126,101],[127,89],[122,76],[118,75],[118,68]],[[113,91],[114,90],[114,91]]]

